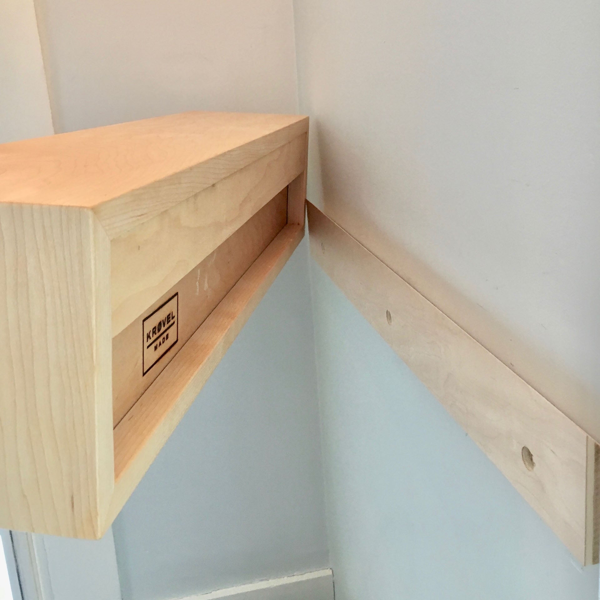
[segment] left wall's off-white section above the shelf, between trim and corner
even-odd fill
[[[185,110],[297,111],[291,0],[39,9],[59,131]]]

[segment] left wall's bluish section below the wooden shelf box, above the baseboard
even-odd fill
[[[125,600],[329,566],[307,241],[113,524]]]

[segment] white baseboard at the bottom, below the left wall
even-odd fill
[[[331,569],[303,575],[279,577],[242,586],[227,587],[208,594],[179,600],[334,600],[334,575]]]

